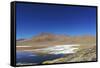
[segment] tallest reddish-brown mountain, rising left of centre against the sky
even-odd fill
[[[56,35],[51,33],[40,33],[33,37],[32,40],[35,42],[48,42],[48,41],[63,41],[67,40],[70,36],[67,35]]]

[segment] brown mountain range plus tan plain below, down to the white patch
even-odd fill
[[[92,35],[69,36],[42,32],[30,39],[17,40],[17,46],[32,46],[32,49],[66,44],[96,44],[96,37]]]

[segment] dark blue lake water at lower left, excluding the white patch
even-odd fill
[[[17,52],[16,53],[16,62],[27,64],[27,63],[36,63],[41,64],[43,61],[46,60],[53,60],[56,58],[63,57],[64,54],[50,54],[50,55],[37,55],[32,52]]]

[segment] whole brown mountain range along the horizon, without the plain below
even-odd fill
[[[69,35],[57,35],[53,33],[42,32],[30,39],[18,39],[19,41],[25,42],[66,42],[66,43],[85,43],[85,42],[96,42],[96,37],[92,35],[82,36],[69,36]]]

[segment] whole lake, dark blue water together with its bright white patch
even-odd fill
[[[79,45],[58,45],[47,48],[40,48],[34,50],[25,50],[16,52],[16,63],[17,64],[41,64],[43,61],[53,60],[57,58],[64,57],[65,54],[75,53],[76,47]],[[34,51],[47,52],[47,55],[39,55],[34,53]]]

